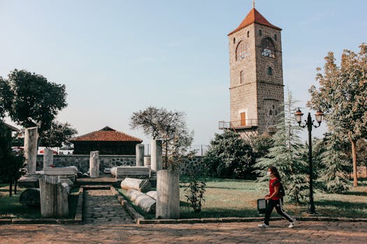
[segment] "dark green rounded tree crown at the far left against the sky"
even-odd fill
[[[24,128],[38,126],[40,137],[67,105],[65,85],[48,82],[42,75],[15,69],[1,83],[10,88],[4,103],[10,118]]]

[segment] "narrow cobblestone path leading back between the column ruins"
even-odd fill
[[[135,224],[111,190],[84,190],[84,224]]]

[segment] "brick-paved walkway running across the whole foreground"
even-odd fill
[[[366,243],[367,222],[285,220],[259,229],[257,222],[213,224],[8,224],[0,243]]]

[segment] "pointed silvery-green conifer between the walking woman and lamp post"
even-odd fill
[[[294,118],[295,101],[288,93],[285,111],[280,114],[277,132],[273,135],[273,147],[263,158],[257,160],[254,167],[260,175],[259,181],[268,181],[266,171],[271,165],[277,167],[282,177],[287,197],[301,203],[308,194],[308,164],[305,161],[306,149],[299,137],[301,128]]]

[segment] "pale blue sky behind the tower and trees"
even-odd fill
[[[251,8],[252,0],[0,0],[0,76],[17,68],[65,84],[69,105],[57,120],[78,135],[108,125],[149,144],[129,120],[155,106],[185,112],[194,144],[209,144],[218,121],[229,121],[226,35]],[[285,93],[304,113],[324,56],[332,51],[339,63],[343,49],[367,42],[365,0],[257,0],[255,8],[282,28]]]

